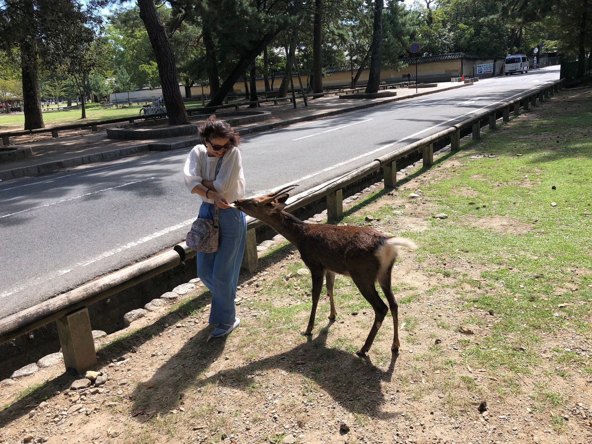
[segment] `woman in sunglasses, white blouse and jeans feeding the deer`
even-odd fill
[[[189,153],[184,175],[188,190],[200,195],[202,200],[192,231],[201,220],[205,231],[198,227],[195,233],[200,243],[197,275],[212,293],[209,322],[217,324],[210,333],[210,337],[215,338],[226,336],[240,323],[234,298],[247,225],[244,213],[231,207],[229,202],[244,198],[244,175],[236,130],[211,115],[198,133],[203,144]],[[204,221],[208,224],[203,225]],[[194,234],[192,231],[188,233],[188,244]],[[212,247],[215,241],[217,249]]]

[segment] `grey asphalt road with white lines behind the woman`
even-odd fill
[[[318,185],[559,78],[558,67],[244,137],[247,195]],[[189,149],[0,184],[0,318],[184,240]]]

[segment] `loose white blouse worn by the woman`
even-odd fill
[[[183,170],[185,184],[189,192],[195,188],[195,185],[201,184],[202,181],[214,181],[217,165],[218,157],[208,157],[204,145],[194,146],[189,156],[187,156]],[[222,157],[222,165],[214,181],[214,188],[228,202],[234,202],[237,199],[244,198],[244,184],[240,151],[234,147],[224,153]],[[213,199],[206,199],[205,196],[200,197],[204,202],[215,203]]]

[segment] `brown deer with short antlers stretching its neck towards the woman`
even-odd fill
[[[303,334],[308,336],[313,332],[324,277],[327,279],[327,294],[331,303],[329,319],[335,318],[337,312],[333,303],[333,284],[335,274],[339,273],[350,276],[362,296],[374,308],[374,324],[357,355],[364,356],[368,352],[388,313],[387,305],[376,290],[376,281],[391,308],[395,329],[391,350],[398,352],[398,305],[391,288],[392,265],[398,256],[397,246],[415,248],[416,245],[403,237],[385,236],[367,227],[304,223],[294,215],[282,211],[289,197],[288,192],[294,189],[294,186],[284,187],[262,197],[239,199],[233,202],[233,205],[282,234],[297,247],[303,262],[310,269],[313,281],[313,309],[308,327]]]

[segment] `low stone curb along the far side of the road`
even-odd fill
[[[305,122],[309,120],[317,120],[326,117],[332,117],[333,115],[345,114],[346,112],[365,110],[366,108],[377,107],[378,105],[385,105],[391,102],[397,102],[399,100],[411,99],[422,95],[435,94],[437,92],[450,91],[451,89],[462,88],[463,86],[469,86],[472,83],[461,83],[460,85],[449,86],[448,88],[442,88],[438,91],[424,91],[416,94],[411,94],[403,97],[390,97],[376,102],[368,102],[361,105],[355,105],[353,107],[342,108],[340,110],[332,110],[325,112],[318,112],[317,114],[303,115],[301,117],[293,117],[286,120],[279,120],[273,123],[264,123],[260,125],[253,125],[247,128],[239,128],[238,132],[241,136],[244,134],[258,133],[260,131],[268,131],[278,127],[285,127],[293,125],[295,123]],[[50,173],[52,171],[64,168],[73,168],[75,166],[86,165],[88,163],[96,162],[108,162],[109,160],[119,159],[120,157],[133,156],[138,153],[145,153],[148,151],[169,151],[183,149],[189,146],[194,146],[200,142],[199,137],[194,137],[187,140],[178,140],[175,142],[152,142],[141,144],[128,148],[120,148],[101,153],[94,153],[91,155],[70,157],[68,159],[55,160],[53,162],[37,163],[36,165],[22,166],[19,168],[12,168],[0,171],[0,180],[8,181],[10,179],[18,179],[25,176],[36,176],[39,174]]]

